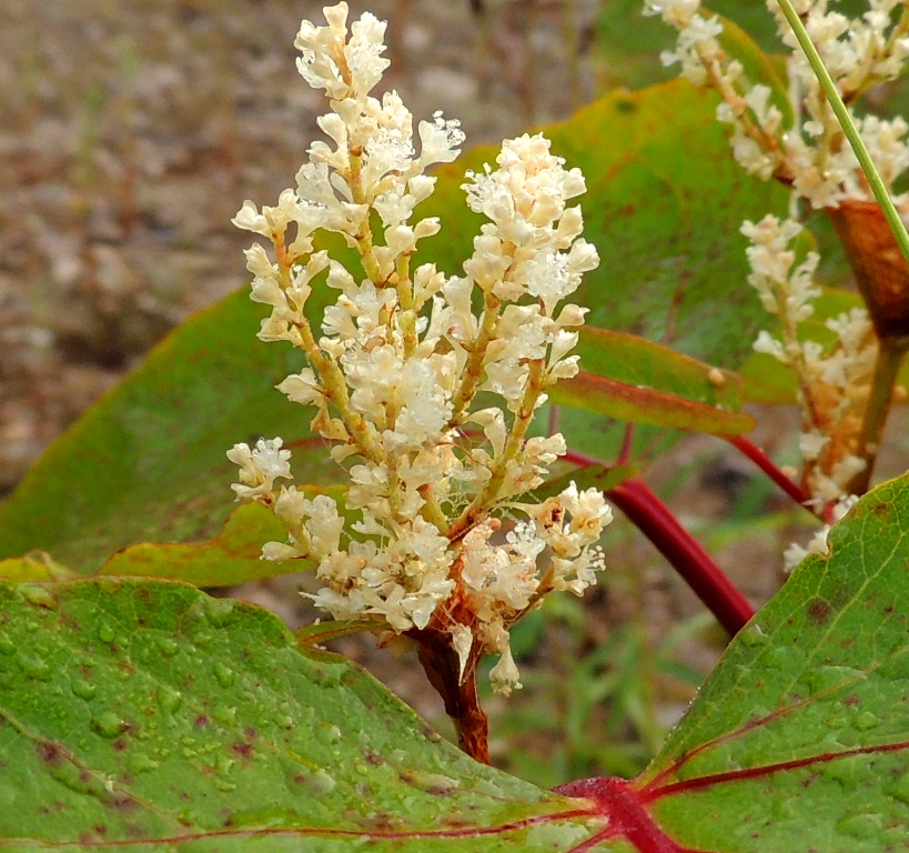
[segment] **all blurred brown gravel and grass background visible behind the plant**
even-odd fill
[[[325,108],[295,71],[293,39],[301,18],[321,21],[321,6],[0,4],[0,499],[170,329],[246,287],[249,234],[230,220],[246,198],[273,203],[317,133]],[[364,8],[351,6],[353,16]],[[467,147],[565,119],[613,88],[670,79],[658,54],[673,33],[639,7],[368,4],[390,21],[385,84],[417,119],[438,109],[461,119]],[[716,8],[772,43],[761,3]],[[776,412],[755,440],[795,461],[796,424]],[[694,438],[648,480],[762,602],[804,519],[753,474],[720,442]],[[609,570],[593,594],[552,596],[516,630],[524,690],[487,698],[496,763],[542,785],[640,770],[726,642],[636,531],[617,522],[606,544]],[[311,618],[296,585],[233,594],[294,625]],[[370,639],[339,648],[448,731],[415,661]]]

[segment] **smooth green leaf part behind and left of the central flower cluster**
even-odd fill
[[[320,290],[313,310],[326,300]],[[337,481],[343,472],[307,428],[312,414],[274,389],[302,358],[255,338],[261,315],[238,292],[160,343],[0,506],[0,558],[43,549],[87,574],[137,542],[216,538],[235,509],[225,453],[263,434],[284,436],[299,481]]]

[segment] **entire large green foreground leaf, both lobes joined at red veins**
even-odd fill
[[[736,638],[637,780],[481,766],[265,611],[0,585],[0,846],[882,853],[909,845],[909,475]]]

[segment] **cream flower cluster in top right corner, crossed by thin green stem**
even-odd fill
[[[898,77],[909,57],[909,3],[869,0],[868,4],[865,14],[849,18],[828,10],[827,0],[795,3],[847,106],[872,86]],[[784,127],[771,90],[749,81],[741,63],[723,50],[718,41],[723,24],[716,17],[701,16],[698,0],[645,0],[644,13],[660,14],[678,30],[677,48],[663,56],[664,63],[680,62],[684,77],[719,92],[723,103],[717,118],[731,124],[733,151],[745,169],[764,180],[782,180],[814,208],[837,207],[846,199],[871,200],[852,149],[779,4],[768,0],[767,6],[791,48],[787,73],[792,127]],[[909,165],[909,126],[901,118],[886,121],[873,116],[856,123],[890,188]],[[909,195],[896,202],[909,215]]]

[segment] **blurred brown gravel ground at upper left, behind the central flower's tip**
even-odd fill
[[[590,94],[562,60],[593,7],[577,26],[547,2],[370,8],[390,20],[387,84],[417,118],[459,118],[468,144]],[[245,282],[249,235],[230,219],[292,181],[324,111],[294,69],[301,17],[321,4],[2,3],[0,490],[170,328]]]

